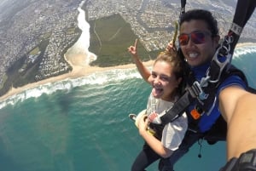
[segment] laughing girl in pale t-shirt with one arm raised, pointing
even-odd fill
[[[182,61],[177,57],[177,52],[173,48],[172,53],[161,53],[157,57],[150,73],[137,56],[137,40],[134,46],[128,48],[128,51],[132,54],[143,79],[152,86],[147,111],[143,117],[137,118],[139,134],[145,140],[145,144],[133,163],[131,171],[143,171],[158,159],[160,159],[159,170],[167,171],[169,170],[167,157],[170,157],[172,151],[175,151],[181,144],[188,128],[186,114],[183,113],[174,122],[166,125],[149,123],[147,117],[152,113],[165,112],[177,100],[181,93],[179,85],[183,79]],[[136,117],[136,115],[130,117]],[[148,128],[153,130],[153,135],[148,134]]]

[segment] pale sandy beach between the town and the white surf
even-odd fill
[[[241,48],[244,46],[256,46],[256,43],[238,43],[236,45],[236,48]],[[95,73],[96,71],[109,71],[112,69],[128,69],[128,68],[136,67],[134,63],[127,64],[127,65],[120,65],[120,66],[110,66],[110,67],[89,66],[86,64],[84,65],[82,61],[85,61],[89,57],[88,55],[93,55],[93,54],[89,53],[87,55],[86,54],[69,54],[69,55],[72,56],[72,60],[68,60],[66,56],[64,56],[64,58],[72,66],[73,71],[70,71],[65,74],[61,74],[56,77],[49,77],[47,79],[44,79],[36,83],[29,83],[19,88],[11,88],[6,94],[0,97],[0,101],[6,100],[15,94],[20,94],[26,89],[36,88],[46,83],[54,83],[64,79],[84,77],[92,73]],[[145,66],[153,66],[153,62],[154,60],[148,60],[147,62],[143,62],[143,64]]]

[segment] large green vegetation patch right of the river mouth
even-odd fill
[[[106,67],[131,64],[131,54],[127,52],[127,48],[134,44],[136,38],[130,24],[119,14],[90,21],[89,50],[98,56],[90,65]],[[149,54],[139,42],[137,50],[143,61],[148,61],[152,59],[150,56],[158,54]]]

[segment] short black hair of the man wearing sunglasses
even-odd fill
[[[212,16],[210,11],[204,9],[192,9],[182,14],[180,18],[180,25],[184,21],[190,20],[203,20],[207,23],[208,29],[212,32],[212,37],[218,35],[218,23],[217,20]]]

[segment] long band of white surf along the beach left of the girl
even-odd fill
[[[74,79],[65,79],[55,83],[45,83],[36,88],[27,88],[20,94],[10,96],[6,100],[0,102],[0,109],[6,105],[15,105],[29,98],[38,98],[42,94],[53,94],[58,90],[68,92],[72,88],[86,85],[103,85],[108,83],[122,82],[126,79],[141,78],[137,69],[113,69],[110,71],[98,71],[86,77]]]

